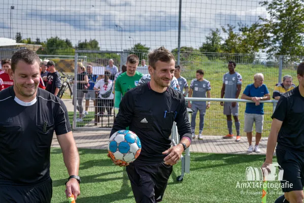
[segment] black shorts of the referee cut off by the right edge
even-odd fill
[[[279,147],[276,149],[276,155],[279,165],[284,170],[283,181],[281,181],[281,185],[284,184],[283,192],[303,190],[304,153]]]

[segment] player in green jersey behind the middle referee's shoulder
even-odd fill
[[[114,101],[114,112],[117,115],[119,110],[119,104],[121,101],[121,97],[124,94],[136,87],[138,85],[138,81],[143,77],[143,74],[136,71],[137,66],[139,64],[139,57],[135,54],[130,54],[127,57],[127,71],[118,76],[115,82],[115,101]]]

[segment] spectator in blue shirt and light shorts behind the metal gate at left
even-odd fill
[[[85,94],[85,111],[83,114],[88,115],[88,109],[89,109],[89,102],[90,99],[94,101],[95,103],[95,98],[96,98],[96,93],[94,91],[94,85],[97,80],[97,75],[93,75],[93,67],[92,65],[87,66],[87,75],[88,75],[88,80],[89,80],[89,87],[88,87],[88,92]],[[95,106],[95,105],[94,105]]]

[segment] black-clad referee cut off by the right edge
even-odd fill
[[[304,62],[297,67],[297,78],[299,85],[284,93],[278,101],[262,165],[266,167],[272,163],[278,142],[277,160],[284,170],[281,183],[287,184],[288,181],[289,184],[282,188],[284,195],[275,203],[297,203],[304,199]]]

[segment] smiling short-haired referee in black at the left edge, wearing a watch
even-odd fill
[[[38,88],[39,56],[12,56],[14,85],[0,92],[0,202],[51,202],[50,148],[54,130],[67,172],[66,196],[80,194],[79,154],[61,99]]]

